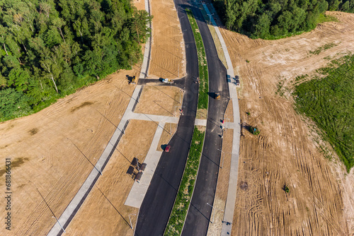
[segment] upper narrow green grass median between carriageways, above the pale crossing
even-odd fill
[[[195,20],[192,11],[187,8],[185,9],[187,13],[190,26],[193,30],[193,35],[195,39],[195,45],[197,47],[198,53],[198,66],[199,66],[199,97],[198,97],[198,109],[207,109],[208,102],[208,92],[209,92],[209,83],[208,83],[208,73],[207,73],[207,56],[205,54],[204,45],[202,43],[202,35],[200,35],[197,21]]]

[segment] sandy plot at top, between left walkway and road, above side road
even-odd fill
[[[176,8],[172,0],[150,4],[154,18],[149,78],[181,78],[185,76],[185,47]]]

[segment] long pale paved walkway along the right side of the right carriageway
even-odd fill
[[[205,4],[202,4],[205,11],[208,15],[210,15],[210,11]],[[212,6],[212,5],[211,5]],[[213,7],[213,6],[212,6]],[[232,100],[232,108],[234,110],[234,122],[227,123],[229,129],[234,129],[234,136],[232,141],[232,158],[231,158],[231,169],[229,176],[229,189],[227,191],[227,200],[224,211],[224,220],[222,223],[222,236],[223,235],[231,235],[232,230],[232,220],[234,218],[234,208],[236,202],[236,189],[237,189],[237,175],[239,174],[239,149],[240,149],[240,132],[241,132],[241,124],[240,124],[240,112],[239,112],[239,99],[237,98],[236,85],[232,78],[234,78],[234,66],[232,66],[232,61],[229,56],[229,52],[227,51],[227,46],[224,42],[224,38],[220,33],[217,24],[215,23],[214,18],[211,17],[212,25],[214,25],[215,31],[217,33],[217,37],[219,37],[220,43],[222,45],[222,49],[224,51],[225,59],[227,61],[227,75],[231,79],[229,79],[229,93],[230,98]]]

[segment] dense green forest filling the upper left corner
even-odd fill
[[[149,20],[130,0],[1,0],[0,122],[130,69]]]

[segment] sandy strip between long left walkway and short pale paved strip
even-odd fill
[[[134,183],[126,172],[133,158],[138,158],[139,163],[144,161],[156,127],[154,122],[130,121],[117,151],[69,225],[67,235],[133,235],[130,219],[134,228],[138,209],[124,205]]]

